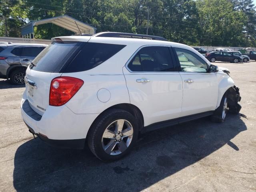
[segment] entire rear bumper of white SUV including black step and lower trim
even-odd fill
[[[25,104],[24,104],[25,103]],[[29,106],[26,94],[21,115],[30,131],[52,146],[83,148],[87,132],[98,114],[74,114],[67,106],[48,106],[42,116]]]

